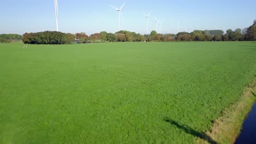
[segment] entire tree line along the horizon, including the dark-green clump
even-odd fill
[[[177,34],[158,34],[152,31],[149,35],[135,32],[119,31],[116,33],[100,32],[86,35],[85,33],[38,32],[19,34],[1,34],[1,43],[10,41],[23,41],[25,44],[72,44],[72,43],[104,43],[104,42],[136,42],[136,41],[254,41],[256,40],[256,20],[245,29],[237,28],[235,31],[222,30],[195,30],[191,33],[179,32]]]

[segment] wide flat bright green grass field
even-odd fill
[[[193,143],[256,74],[251,42],[0,44],[0,143]]]

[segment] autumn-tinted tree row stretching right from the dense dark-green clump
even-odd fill
[[[158,34],[152,31],[149,35],[141,35],[135,32],[119,31],[116,33],[100,32],[91,34],[76,33],[75,38],[79,43],[99,42],[125,42],[125,41],[243,41],[256,40],[256,20],[253,25],[245,29],[237,28],[235,31],[228,29],[226,33],[222,30],[195,30],[191,33],[179,32],[178,34]]]

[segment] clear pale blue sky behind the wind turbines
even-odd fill
[[[109,4],[120,7],[123,21],[121,29],[136,33],[147,33],[155,29],[155,17],[162,22],[162,33],[198,29],[236,29],[252,25],[256,19],[255,0],[58,0],[59,30],[61,32],[86,34],[101,31],[118,31],[118,13]],[[1,1],[0,34],[55,31],[54,0]]]

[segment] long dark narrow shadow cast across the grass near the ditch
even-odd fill
[[[214,141],[210,136],[206,135],[205,133],[201,132],[201,131],[196,131],[190,127],[188,127],[187,125],[181,125],[179,124],[178,122],[176,121],[173,121],[169,118],[165,118],[164,119],[166,122],[174,125],[175,127],[183,130],[185,133],[187,134],[190,134],[190,135],[194,135],[196,137],[199,137],[200,139],[203,139],[205,141],[207,141],[208,143],[211,143],[211,144],[217,144],[216,141]]]

